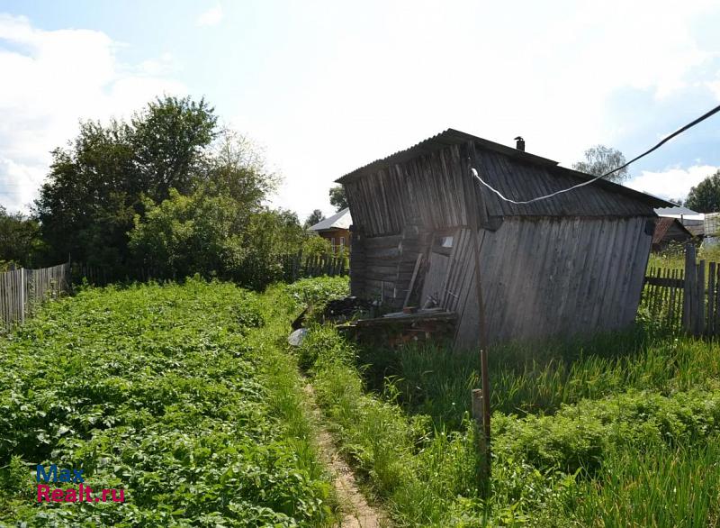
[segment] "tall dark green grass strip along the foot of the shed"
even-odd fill
[[[477,354],[440,346],[358,350],[356,366],[371,390],[382,394],[392,386],[406,412],[428,414],[446,427],[462,423],[470,410],[468,395],[480,387]],[[574,346],[496,348],[489,370],[493,409],[552,414],[561,405],[629,388],[667,394],[698,387],[708,378],[720,378],[720,354],[712,341],[653,337],[635,329]]]

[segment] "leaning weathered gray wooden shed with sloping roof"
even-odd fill
[[[452,129],[357,168],[338,179],[354,224],[352,295],[393,309],[410,302],[455,312],[455,348],[473,348],[477,232],[489,341],[608,331],[634,320],[653,207],[667,202],[599,180],[516,205],[483,187],[471,167],[516,201],[591,178]]]

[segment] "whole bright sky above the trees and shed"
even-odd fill
[[[0,0],[0,203],[25,208],[79,119],[205,96],[332,212],[334,179],[453,127],[571,165],[629,159],[720,102],[716,2]],[[665,197],[720,168],[720,117],[633,168]],[[528,196],[531,197],[531,196]]]

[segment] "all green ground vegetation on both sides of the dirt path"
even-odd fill
[[[344,278],[262,296],[193,279],[47,306],[0,350],[0,523],[333,523],[298,363],[399,526],[720,523],[715,342],[637,328],[492,350],[483,499],[474,353],[367,350],[317,323],[298,349],[284,344],[304,305],[344,295]],[[35,505],[39,462],[82,467],[128,500]]]

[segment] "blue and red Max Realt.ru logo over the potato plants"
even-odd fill
[[[105,489],[97,491],[100,495],[93,495],[93,488],[85,485],[83,469],[58,469],[56,464],[50,464],[46,470],[44,466],[38,467],[35,471],[35,479],[38,481],[38,502],[75,503],[75,502],[125,502],[124,489]],[[46,484],[40,484],[40,482]],[[67,485],[77,484],[78,487],[56,487],[50,488],[48,483],[63,483]]]

